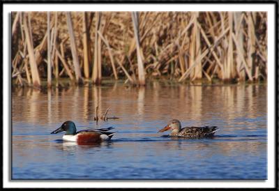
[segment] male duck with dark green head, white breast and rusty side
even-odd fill
[[[66,121],[61,125],[60,128],[51,132],[51,134],[66,131],[65,135],[63,135],[63,140],[65,141],[77,143],[95,143],[101,142],[103,140],[110,140],[115,133],[107,132],[111,129],[113,128],[110,127],[93,130],[80,130],[79,132],[77,132],[77,128],[75,128],[75,123],[73,123],[73,121]]]

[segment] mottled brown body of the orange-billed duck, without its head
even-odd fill
[[[182,128],[177,134],[172,136],[187,137],[187,138],[200,138],[211,137],[218,130],[217,126],[204,126],[204,127],[186,127]]]

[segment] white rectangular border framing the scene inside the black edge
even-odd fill
[[[268,12],[268,180],[267,181],[9,181],[10,109],[8,63],[12,11],[267,11]],[[272,4],[62,4],[3,3],[3,188],[274,188],[275,187],[275,8]]]

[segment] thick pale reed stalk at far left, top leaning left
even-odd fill
[[[25,39],[27,40],[26,42],[27,42],[27,49],[29,54],[29,63],[31,68],[33,86],[40,87],[40,77],[39,77],[38,68],[36,64],[34,49],[32,47],[33,43],[31,43],[32,40],[31,37],[29,36],[29,29],[27,26],[27,15],[25,14],[23,15],[23,26],[24,26]]]

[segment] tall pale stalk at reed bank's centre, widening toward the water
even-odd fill
[[[138,13],[132,13],[132,20],[134,26],[134,35],[135,41],[137,45],[137,72],[139,77],[139,84],[145,85],[145,74],[144,74],[144,63],[142,62],[142,55],[140,50],[140,31],[139,31],[139,20],[138,20]]]

